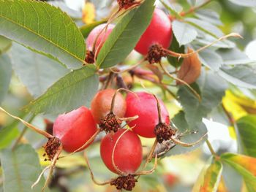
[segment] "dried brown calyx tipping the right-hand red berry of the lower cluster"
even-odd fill
[[[163,141],[170,140],[170,137],[176,134],[176,131],[167,126],[166,123],[158,123],[154,128],[154,134],[157,136],[157,142],[162,143]]]

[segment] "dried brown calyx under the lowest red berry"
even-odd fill
[[[127,176],[119,176],[115,180],[110,182],[110,185],[115,185],[117,190],[127,190],[132,191],[132,188],[135,187],[135,183],[138,180],[135,179],[135,176],[132,174],[128,174]]]

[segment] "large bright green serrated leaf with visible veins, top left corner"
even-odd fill
[[[0,34],[78,68],[86,47],[82,34],[61,9],[41,1],[1,0]]]

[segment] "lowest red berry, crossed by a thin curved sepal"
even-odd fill
[[[119,129],[116,134],[107,134],[100,144],[100,155],[111,172],[116,172],[112,164],[113,147],[126,129]],[[114,161],[118,169],[126,174],[133,174],[140,167],[143,158],[140,138],[133,131],[127,131],[118,140],[114,153]]]

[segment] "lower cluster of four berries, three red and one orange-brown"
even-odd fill
[[[167,109],[162,101],[159,101],[159,104],[163,123],[169,124]],[[122,128],[123,120],[136,115],[138,118],[127,121],[129,127],[133,127],[131,130]],[[64,150],[72,153],[94,137],[97,130],[107,132],[100,145],[102,161],[110,171],[124,176],[135,174],[142,162],[143,149],[138,135],[156,137],[158,124],[157,100],[152,94],[128,93],[124,99],[118,91],[105,89],[94,96],[91,110],[80,107],[78,110],[59,115],[53,124],[53,136],[60,139]],[[90,144],[91,142],[80,150]]]

